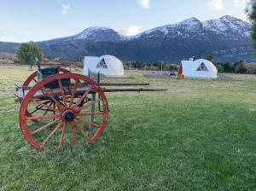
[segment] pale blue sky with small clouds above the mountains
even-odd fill
[[[0,0],[0,41],[61,38],[89,26],[108,26],[125,35],[176,23],[232,15],[246,19],[248,0]]]

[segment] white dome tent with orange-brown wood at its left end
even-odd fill
[[[218,78],[218,70],[211,61],[190,59],[182,61],[177,78]]]

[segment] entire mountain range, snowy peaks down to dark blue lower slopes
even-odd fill
[[[256,61],[251,25],[226,15],[201,21],[194,17],[177,24],[155,27],[125,37],[108,27],[89,27],[67,38],[38,42],[44,55],[82,58],[84,55],[115,55],[124,61],[179,63],[191,56],[213,55],[216,61]],[[0,42],[0,51],[15,52],[19,43]]]

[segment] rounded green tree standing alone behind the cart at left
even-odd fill
[[[42,61],[44,57],[42,49],[37,43],[30,42],[20,44],[20,48],[17,51],[17,59],[20,64],[29,64],[30,69],[32,69],[36,57],[38,61]]]

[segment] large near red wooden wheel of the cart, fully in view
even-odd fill
[[[98,98],[91,100],[90,94],[94,92]],[[56,107],[49,105],[50,101]],[[97,110],[91,111],[97,104]],[[35,108],[37,112],[32,113]],[[49,114],[45,115],[46,111]],[[27,112],[32,115],[27,116]],[[38,82],[20,106],[20,129],[27,142],[38,150],[44,150],[50,139],[49,144],[60,148],[69,137],[77,145],[96,142],[107,121],[108,102],[104,92],[93,80],[76,73],[56,74]]]

